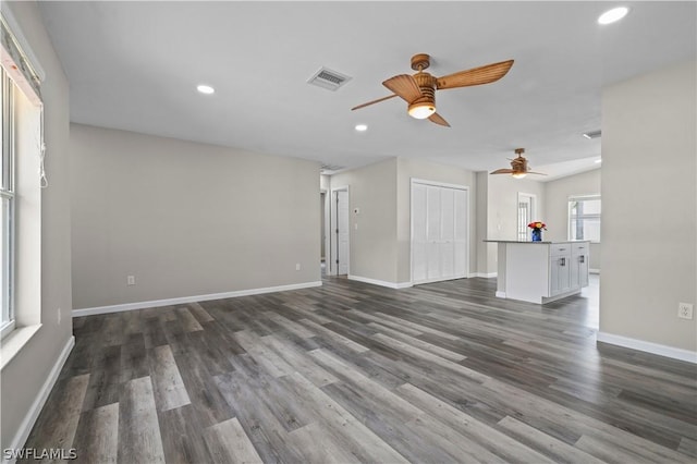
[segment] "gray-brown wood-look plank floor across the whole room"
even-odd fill
[[[77,318],[26,447],[126,464],[695,463],[697,366],[597,345],[594,297],[494,291],[329,278]]]

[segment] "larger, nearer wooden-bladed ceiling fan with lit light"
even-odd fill
[[[369,105],[379,103],[393,97],[400,97],[408,103],[408,113],[412,118],[429,119],[436,124],[450,127],[440,114],[436,112],[436,90],[447,88],[469,87],[473,85],[489,84],[503,77],[511,66],[513,60],[501,61],[500,63],[486,64],[466,71],[458,71],[442,77],[436,77],[424,72],[430,65],[430,57],[426,53],[418,53],[412,57],[412,69],[416,74],[400,74],[384,81],[382,85],[392,90],[393,95],[358,105],[351,110],[365,108]]]

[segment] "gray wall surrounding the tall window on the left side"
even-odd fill
[[[72,337],[68,80],[44,28],[37,4],[3,1],[2,8],[12,11],[46,71],[41,94],[46,172],[50,186],[41,191],[41,328],[0,375],[0,449],[13,444],[22,422]]]

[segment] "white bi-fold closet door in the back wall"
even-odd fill
[[[412,282],[467,277],[467,190],[412,182]]]

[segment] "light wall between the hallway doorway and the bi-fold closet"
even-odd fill
[[[395,283],[396,159],[331,176],[331,188],[345,186],[350,207],[350,276]],[[354,213],[355,208],[359,213]]]

